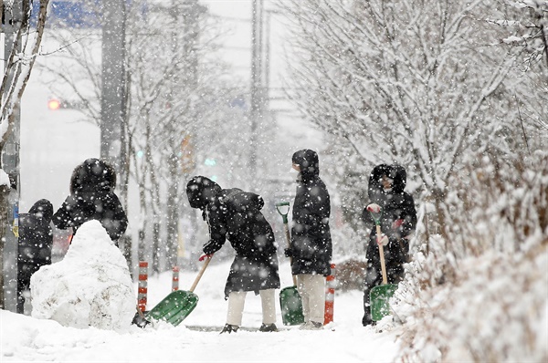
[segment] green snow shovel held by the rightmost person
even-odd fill
[[[369,211],[373,217],[374,224],[376,226],[377,241],[381,240],[381,215],[382,213],[374,213]],[[373,321],[379,321],[384,316],[390,314],[390,297],[394,296],[394,292],[397,289],[397,285],[388,284],[386,277],[385,266],[385,249],[383,244],[379,244],[379,254],[381,257],[381,269],[383,270],[383,285],[374,286],[369,293],[369,302],[371,305],[371,318]]]

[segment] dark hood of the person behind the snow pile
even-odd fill
[[[116,186],[116,172],[107,161],[90,158],[74,168],[70,192],[111,191]]]

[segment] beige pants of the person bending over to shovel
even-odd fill
[[[246,303],[246,291],[233,291],[228,295],[227,324],[240,327]],[[263,324],[276,323],[276,300],[274,289],[259,290],[260,302],[262,305]]]

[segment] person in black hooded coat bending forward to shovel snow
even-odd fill
[[[274,289],[279,288],[278,257],[274,233],[260,212],[264,202],[252,192],[221,189],[204,176],[195,176],[186,185],[190,206],[202,211],[209,226],[204,258],[211,258],[226,240],[236,251],[225,286],[228,299],[227,324],[221,333],[241,326],[248,291],[260,295],[262,325],[259,331],[277,331]]]

